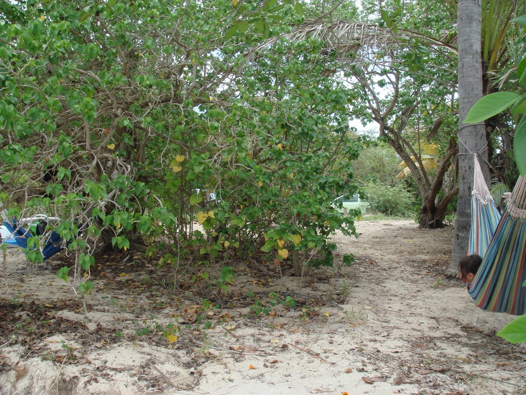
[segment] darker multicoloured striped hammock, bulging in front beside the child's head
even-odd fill
[[[469,294],[484,310],[526,313],[526,178],[519,177]]]

